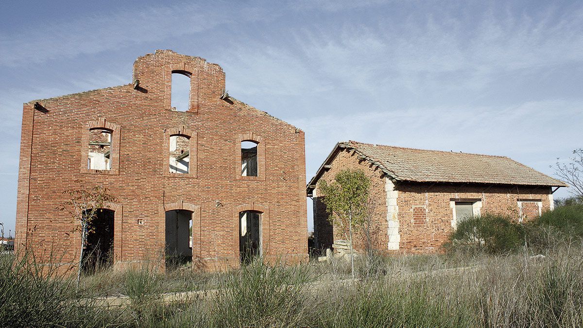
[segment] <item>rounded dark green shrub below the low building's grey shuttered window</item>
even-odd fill
[[[458,222],[449,246],[454,250],[503,254],[523,245],[525,237],[524,225],[501,215],[484,214]]]

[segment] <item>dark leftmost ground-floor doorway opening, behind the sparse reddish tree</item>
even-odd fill
[[[86,274],[113,265],[115,211],[97,210],[96,216],[87,222],[87,239],[83,252],[82,270]]]

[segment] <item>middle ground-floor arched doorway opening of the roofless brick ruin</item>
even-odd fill
[[[192,262],[192,212],[166,212],[166,268]]]

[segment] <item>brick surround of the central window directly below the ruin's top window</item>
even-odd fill
[[[188,153],[186,152],[182,152],[180,155],[179,154],[173,154],[174,151],[176,151],[176,147],[171,145],[172,141],[174,141],[175,139],[178,138],[173,138],[173,137],[182,137],[182,138],[186,138],[188,139],[188,145],[186,146],[186,148],[188,148],[186,151],[188,151]],[[184,139],[182,139],[184,140]],[[184,125],[177,127],[177,128],[170,128],[170,129],[166,129],[164,130],[164,159],[163,159],[163,172],[164,172],[164,176],[170,176],[170,177],[196,177],[196,162],[197,162],[197,155],[196,155],[196,143],[197,143],[197,137],[196,137],[196,132],[190,130],[189,128],[186,128]],[[182,149],[184,151],[184,149]],[[171,155],[173,154],[173,155]],[[188,157],[188,172],[186,172],[185,168],[176,168],[176,169],[172,169],[171,166],[171,157],[173,157],[175,160],[184,160],[186,157]],[[170,162],[169,162],[170,161]],[[182,172],[182,173],[180,173]]]

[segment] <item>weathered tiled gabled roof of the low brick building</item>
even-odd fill
[[[315,188],[319,177],[326,169],[325,166],[332,163],[342,149],[356,152],[359,160],[370,162],[395,181],[567,186],[560,180],[505,156],[431,151],[347,141],[336,144],[308,183],[308,194]]]

